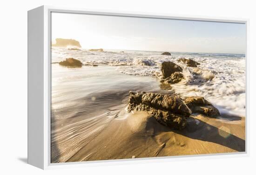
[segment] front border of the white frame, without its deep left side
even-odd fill
[[[59,168],[74,168],[74,167],[94,167],[108,165],[123,165],[137,164],[149,162],[172,162],[172,161],[188,161],[202,159],[219,159],[230,157],[249,156],[249,19],[238,18],[220,18],[209,16],[195,15],[175,15],[166,13],[144,13],[144,12],[124,12],[124,11],[109,11],[79,8],[61,8],[56,6],[43,6],[44,8],[44,169],[59,169]],[[89,162],[65,162],[51,163],[50,152],[50,117],[51,117],[51,13],[81,13],[81,14],[99,14],[99,15],[115,15],[128,17],[143,17],[143,18],[161,18],[161,19],[183,19],[183,20],[200,20],[200,21],[215,21],[215,22],[231,22],[244,23],[246,25],[246,119],[245,119],[245,152],[236,153],[220,153],[220,154],[205,154],[205,155],[188,155],[188,156],[165,156],[165,157],[150,157],[137,159],[119,159],[119,160],[102,160]]]

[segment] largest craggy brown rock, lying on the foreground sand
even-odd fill
[[[168,94],[130,91],[127,111],[147,111],[163,125],[182,130],[187,123],[191,110],[179,97]]]

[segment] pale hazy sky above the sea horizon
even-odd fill
[[[52,13],[52,41],[78,40],[85,49],[245,53],[245,24]]]

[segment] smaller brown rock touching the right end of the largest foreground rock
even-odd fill
[[[217,117],[220,115],[219,110],[203,97],[188,97],[184,100],[193,113],[200,113],[209,117]]]

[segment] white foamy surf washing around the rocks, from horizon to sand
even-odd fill
[[[216,105],[222,113],[245,116],[245,58],[239,55],[210,53],[172,53],[141,51],[82,52],[52,48],[52,62],[73,57],[84,65],[117,66],[121,73],[135,76],[161,78],[163,61],[172,61],[183,68],[183,79],[172,84],[172,90],[182,97],[202,96]],[[179,58],[191,58],[200,63],[198,67],[187,67]]]

